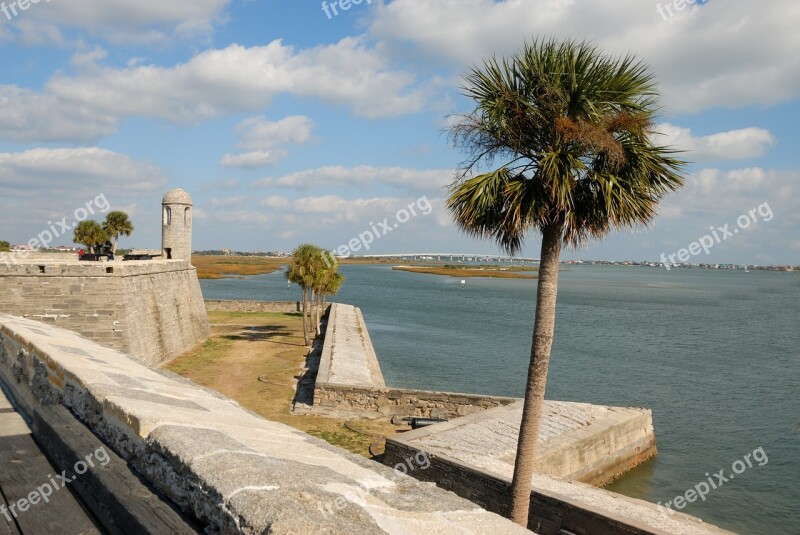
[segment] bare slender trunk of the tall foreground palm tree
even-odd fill
[[[542,417],[547,367],[553,347],[558,295],[558,263],[561,256],[562,225],[556,223],[542,231],[542,253],[539,265],[539,284],[536,294],[536,319],[533,325],[531,364],[525,387],[525,406],[517,442],[517,459],[511,483],[511,520],[528,526],[531,499],[531,478],[539,424]]]

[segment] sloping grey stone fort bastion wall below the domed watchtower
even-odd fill
[[[0,312],[76,331],[153,366],[208,336],[186,260],[0,264]]]

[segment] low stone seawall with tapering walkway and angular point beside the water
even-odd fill
[[[358,332],[340,351],[339,333]],[[450,392],[386,387],[363,317],[334,304],[325,331],[314,407],[448,422],[387,437],[383,462],[429,458],[414,477],[436,483],[490,511],[508,514],[523,402]],[[542,535],[721,535],[700,519],[595,488],[656,455],[652,412],[547,401],[538,437],[528,527]],[[586,484],[586,483],[590,483]]]

